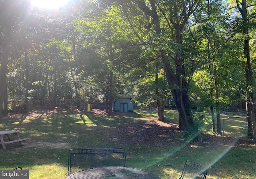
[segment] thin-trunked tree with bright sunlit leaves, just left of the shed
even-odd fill
[[[96,77],[105,95],[106,112],[111,114],[112,100],[125,94],[123,86],[127,69],[130,69],[129,60],[133,58],[133,37],[127,32],[126,22],[121,20],[119,7],[96,3],[93,10],[84,12],[83,16],[86,18],[78,20],[85,47],[82,51],[91,54],[86,61],[101,64]]]

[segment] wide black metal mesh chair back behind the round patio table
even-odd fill
[[[68,152],[68,176],[82,169],[107,166],[126,167],[125,149],[70,149]]]

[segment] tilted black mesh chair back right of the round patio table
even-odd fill
[[[206,179],[207,169],[194,161],[186,161],[179,179]]]

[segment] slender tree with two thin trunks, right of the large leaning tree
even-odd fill
[[[221,94],[220,87],[221,82],[225,74],[222,73],[222,68],[225,66],[220,65],[223,59],[222,46],[225,45],[228,38],[228,35],[225,37],[223,31],[227,31],[228,16],[225,12],[226,8],[223,5],[222,1],[210,1],[203,4],[206,16],[203,16],[202,21],[200,21],[200,28],[206,39],[207,46],[207,59],[208,59],[208,73],[210,77],[210,96],[212,99],[215,99],[210,106],[212,114],[212,129],[213,132],[216,132],[215,129],[215,120],[214,120],[214,108],[216,109],[216,121],[217,121],[217,133],[222,134],[221,131],[221,122],[220,122],[220,108],[221,108]],[[222,57],[221,57],[222,56]],[[228,69],[228,68],[227,68]]]

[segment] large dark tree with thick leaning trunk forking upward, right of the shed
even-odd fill
[[[138,40],[142,43],[146,41],[154,46],[155,49],[158,49],[164,65],[166,79],[178,108],[179,128],[181,130],[186,130],[189,126],[193,126],[190,99],[188,96],[191,73],[188,73],[185,67],[187,65],[186,63],[190,62],[189,60],[184,60],[184,39],[182,36],[184,35],[184,30],[188,29],[187,23],[190,16],[196,11],[199,4],[200,0],[182,2],[179,0],[133,0],[121,4],[126,12],[134,12],[135,10],[132,9],[137,7],[136,15],[129,13],[127,16],[130,26],[138,36]],[[135,16],[140,16],[143,20],[139,19],[139,22],[136,22],[136,18],[133,18]],[[138,24],[141,26],[136,30],[135,27]],[[142,29],[143,31],[149,31],[151,34],[155,34],[151,36],[151,42],[149,39],[144,38],[145,35],[143,35]]]

